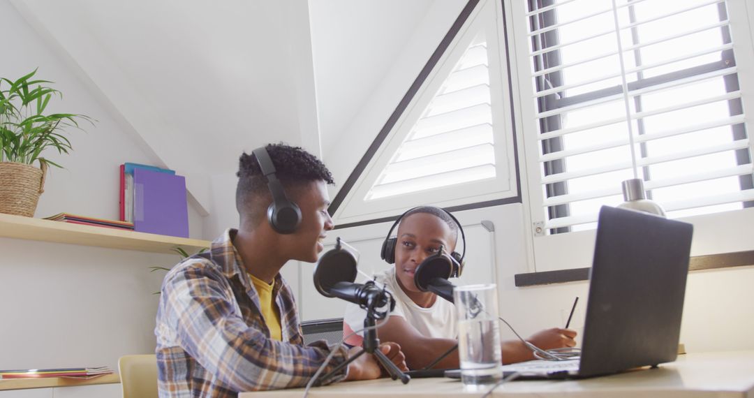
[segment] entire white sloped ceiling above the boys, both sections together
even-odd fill
[[[11,4],[211,213],[208,181],[241,151],[335,145],[434,1]]]

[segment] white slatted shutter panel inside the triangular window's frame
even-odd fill
[[[495,178],[487,43],[470,44],[366,201]]]

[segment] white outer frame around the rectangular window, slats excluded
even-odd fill
[[[510,52],[513,60],[511,69],[516,69],[517,80],[513,83],[516,91],[516,114],[520,115],[521,130],[524,132],[520,140],[522,153],[523,188],[526,197],[524,217],[527,240],[531,247],[530,271],[556,271],[570,268],[588,267],[591,264],[593,245],[596,231],[574,231],[568,234],[544,234],[544,190],[541,188],[539,171],[539,145],[537,132],[537,109],[534,101],[527,100],[534,97],[532,76],[529,73],[529,26],[526,20],[528,12],[527,2],[515,0],[501,0],[507,5],[509,14],[505,17],[512,29],[508,31],[508,41],[511,43]],[[738,81],[744,87],[741,93],[743,103],[754,104],[754,6],[747,6],[745,2],[726,2],[729,29],[736,40],[733,43],[738,69]],[[748,9],[747,9],[748,7]],[[746,87],[750,87],[746,90]],[[744,122],[746,130],[752,132],[752,122]],[[749,140],[749,154],[754,153],[754,140]],[[562,188],[561,188],[562,189]],[[749,204],[740,210],[713,213],[702,216],[679,218],[694,224],[694,243],[692,255],[700,256],[714,253],[728,253],[751,250],[754,243],[746,239],[743,231],[754,222],[754,207]]]

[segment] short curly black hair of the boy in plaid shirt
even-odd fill
[[[333,175],[316,156],[298,146],[283,142],[265,146],[275,167],[275,176],[280,180],[289,199],[290,190],[308,182],[324,181],[333,184]],[[271,195],[267,188],[267,179],[262,175],[256,155],[244,152],[238,161],[238,186],[236,187],[236,209],[241,216],[250,216],[251,221],[258,222],[267,212]],[[257,203],[259,202],[259,203]],[[265,204],[262,204],[264,202]],[[243,218],[243,217],[242,217]]]

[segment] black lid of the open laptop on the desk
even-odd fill
[[[579,376],[673,362],[693,226],[599,211]]]

